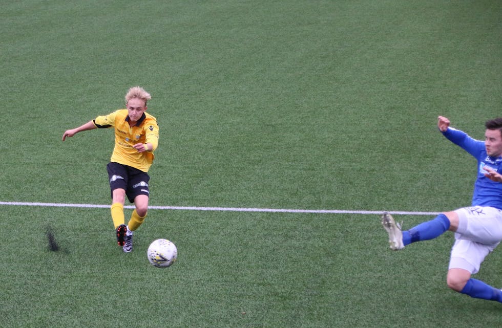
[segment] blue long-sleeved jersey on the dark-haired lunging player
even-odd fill
[[[483,169],[488,166],[499,173],[502,172],[502,156],[488,156],[484,141],[475,140],[461,130],[449,127],[443,135],[477,160],[477,179],[474,183],[472,206],[491,206],[502,209],[502,183],[485,177],[486,171]]]

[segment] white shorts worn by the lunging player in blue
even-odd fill
[[[502,240],[502,211],[493,207],[464,207],[455,210],[458,229],[451,248],[449,269],[477,273],[485,257]]]

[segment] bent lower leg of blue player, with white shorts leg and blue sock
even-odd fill
[[[499,289],[471,278],[471,274],[479,271],[481,263],[493,249],[494,246],[475,243],[467,239],[457,239],[451,250],[446,278],[448,287],[473,298],[502,302],[502,292]]]

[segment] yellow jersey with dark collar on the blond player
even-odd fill
[[[153,151],[159,144],[159,126],[157,119],[150,114],[143,116],[136,125],[129,126],[128,110],[118,110],[111,114],[98,116],[93,120],[97,128],[115,128],[115,147],[111,162],[129,165],[143,172],[148,172],[152,165]],[[138,152],[133,145],[151,143],[151,151]]]

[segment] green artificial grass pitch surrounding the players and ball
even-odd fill
[[[392,252],[362,211],[470,204],[476,163],[436,117],[483,139],[500,116],[501,16],[498,1],[3,2],[0,202],[109,205],[112,130],[61,137],[141,85],[161,134],[152,206],[355,212],[151,209],[125,254],[109,208],[0,205],[2,326],[499,325],[499,303],[446,287],[451,233]],[[171,268],[148,263],[156,238],[177,245]],[[476,278],[502,288],[500,260]]]

